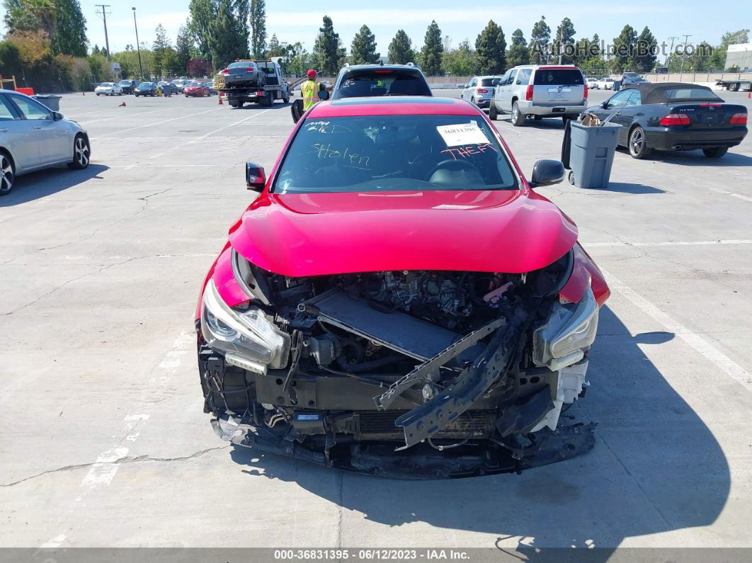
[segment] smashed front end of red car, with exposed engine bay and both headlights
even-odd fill
[[[559,302],[572,252],[526,274],[285,277],[232,251],[252,296],[210,281],[199,330],[205,411],[226,440],[392,477],[463,477],[589,450],[560,426],[584,395],[598,307]]]

